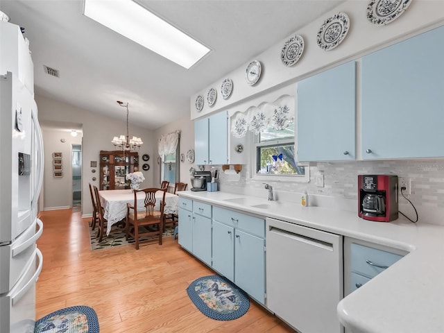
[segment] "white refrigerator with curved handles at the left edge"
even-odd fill
[[[43,144],[30,61],[19,27],[0,22],[0,333],[34,331],[43,264],[36,246]]]

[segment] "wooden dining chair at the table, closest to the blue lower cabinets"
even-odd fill
[[[160,203],[165,202],[165,194],[167,188],[157,189],[139,189],[134,191],[134,203],[127,204],[126,213],[126,240],[133,237],[136,244],[136,250],[139,250],[139,239],[142,237],[157,236],[159,237],[159,245],[162,245],[162,232],[164,229],[164,205],[157,205],[160,210],[155,210],[157,191],[162,191],[162,199]],[[144,205],[137,206],[137,194],[144,196]]]

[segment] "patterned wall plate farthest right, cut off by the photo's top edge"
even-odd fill
[[[367,19],[374,24],[389,24],[400,17],[411,0],[371,0],[367,6]]]

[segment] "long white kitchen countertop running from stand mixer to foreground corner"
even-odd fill
[[[444,332],[444,226],[360,219],[355,212],[267,201],[222,191],[179,196],[409,252],[339,302],[339,321],[354,333]],[[257,206],[257,207],[254,207]]]

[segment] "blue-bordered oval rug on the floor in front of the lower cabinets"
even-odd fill
[[[200,312],[216,321],[232,321],[250,308],[245,291],[217,275],[194,280],[187,293]]]

